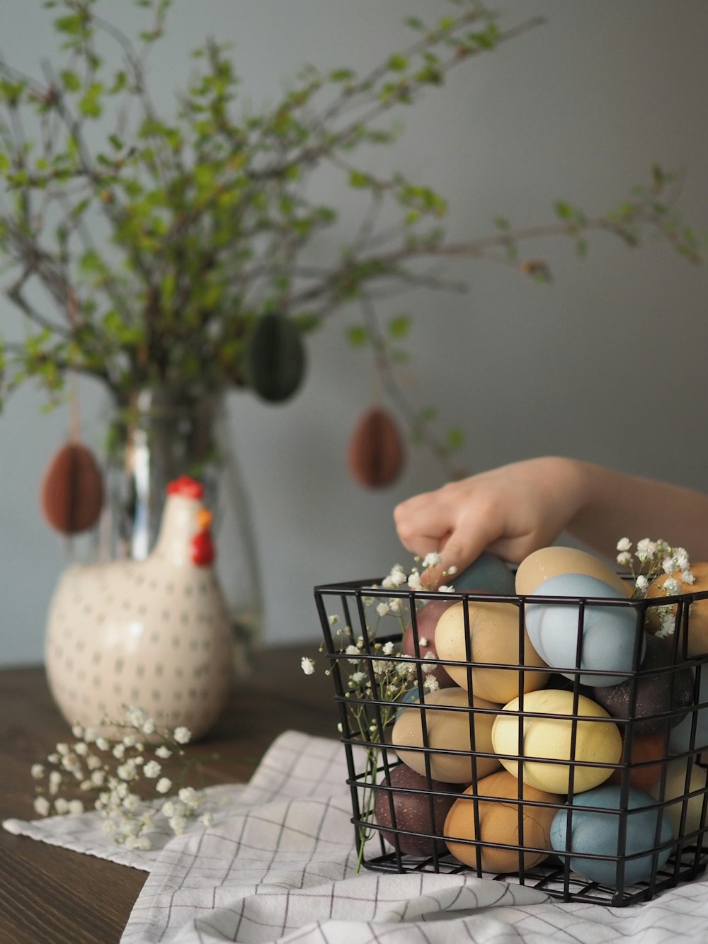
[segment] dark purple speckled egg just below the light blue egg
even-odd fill
[[[632,715],[634,733],[665,732],[685,716],[663,716],[664,712],[686,710],[693,704],[693,672],[688,666],[671,666],[673,647],[666,640],[645,634],[646,650],[638,675],[618,685],[593,689],[593,699],[613,717]],[[663,670],[663,671],[662,671]],[[630,700],[633,695],[632,712]]]

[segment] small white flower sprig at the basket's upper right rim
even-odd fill
[[[672,548],[666,541],[642,538],[637,541],[632,553],[632,541],[628,537],[617,541],[617,564],[627,567],[634,582],[634,596],[645,597],[649,585],[656,585],[667,597],[676,597],[683,585],[696,582],[691,571],[691,561],[685,548]],[[664,580],[660,581],[660,578]],[[674,632],[673,608],[658,607],[656,610],[661,628],[657,636],[668,636]]]

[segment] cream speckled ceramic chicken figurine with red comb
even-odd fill
[[[46,632],[49,686],[70,724],[96,727],[138,705],[193,738],[228,699],[231,633],[211,566],[211,514],[199,482],[167,488],[144,561],[74,565],[59,579]]]

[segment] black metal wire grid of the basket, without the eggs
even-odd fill
[[[463,708],[444,708],[435,706],[435,711],[458,711],[464,712],[468,716],[470,750],[446,750],[443,748],[431,748],[427,733],[426,716],[431,708],[426,707],[426,689],[425,678],[430,661],[425,658],[421,651],[418,630],[417,616],[421,606],[424,606],[431,600],[439,600],[439,593],[430,591],[412,591],[407,589],[381,589],[379,581],[364,582],[343,582],[337,584],[328,584],[315,587],[315,601],[318,615],[320,618],[322,632],[324,635],[323,651],[329,662],[329,673],[334,684],[334,700],[339,709],[339,730],[342,734],[342,741],[346,749],[346,764],[348,777],[346,783],[350,788],[352,803],[352,824],[354,827],[355,842],[359,852],[359,860],[363,868],[374,869],[388,872],[438,872],[438,873],[468,873],[484,877],[487,879],[502,880],[514,882],[520,885],[530,885],[539,888],[550,896],[562,899],[568,902],[591,902],[613,906],[625,906],[636,902],[648,901],[661,890],[678,885],[681,882],[690,881],[696,878],[708,865],[708,782],[706,781],[706,766],[708,762],[708,735],[700,733],[699,719],[701,712],[708,713],[708,653],[700,656],[691,657],[688,653],[687,641],[689,639],[690,627],[690,607],[691,604],[700,599],[708,598],[708,591],[684,594],[679,597],[653,598],[653,599],[626,599],[610,600],[606,598],[567,598],[567,597],[523,597],[523,596],[502,596],[488,593],[471,592],[453,592],[447,595],[451,602],[463,601],[467,603],[464,607],[464,626],[466,636],[465,661],[456,662],[456,666],[464,666],[466,670],[466,682],[468,701]],[[385,616],[379,619],[375,616],[376,626],[372,625],[372,613],[376,613],[376,607],[379,603],[389,602],[392,599],[400,601],[400,615],[394,619],[391,616]],[[497,668],[512,669],[518,673],[519,680],[519,703],[518,711],[518,745],[520,752],[518,754],[506,754],[504,758],[514,760],[519,768],[523,770],[524,763],[543,760],[545,763],[564,763],[562,761],[553,761],[548,757],[539,758],[525,755],[524,749],[524,725],[526,721],[535,717],[524,708],[524,675],[528,672],[539,671],[536,666],[524,664],[524,637],[525,637],[525,615],[530,600],[533,604],[538,602],[548,603],[550,606],[559,605],[567,607],[572,604],[577,607],[577,647],[576,662],[573,666],[556,666],[551,671],[551,679],[546,687],[563,687],[572,693],[573,709],[567,714],[551,714],[544,717],[560,719],[569,723],[571,729],[570,736],[570,754],[566,764],[569,764],[569,784],[568,793],[561,803],[547,804],[538,801],[529,801],[524,797],[524,787],[519,779],[518,795],[515,798],[501,800],[498,797],[488,797],[480,794],[478,791],[479,781],[483,778],[477,774],[477,765],[482,758],[488,758],[488,751],[475,750],[475,720],[476,716],[488,712],[489,709],[475,707],[472,703],[474,695],[473,668]],[[512,603],[518,609],[518,662],[515,663],[475,663],[471,659],[470,633],[468,624],[468,607],[474,606],[476,602],[498,602]],[[618,673],[626,679],[629,686],[629,696],[626,716],[610,717],[606,723],[617,725],[622,735],[622,755],[619,763],[614,765],[594,764],[592,761],[579,760],[576,758],[576,735],[578,724],[586,719],[586,716],[578,714],[578,702],[587,687],[581,683],[581,676],[587,678],[588,669],[582,666],[582,627],[586,607],[592,606],[623,606],[632,608],[635,618],[635,645],[632,657],[631,670]],[[686,707],[673,708],[669,705],[666,710],[657,713],[654,718],[658,721],[666,722],[665,744],[662,750],[661,758],[652,758],[645,761],[632,759],[632,742],[635,740],[635,730],[638,723],[637,718],[637,693],[640,691],[642,680],[649,674],[649,670],[643,669],[641,665],[642,643],[645,630],[652,625],[652,617],[655,610],[660,607],[671,606],[673,608],[673,633],[667,639],[667,651],[670,657],[666,666],[659,669],[652,669],[652,674],[666,674],[665,684],[668,685],[670,692],[673,692],[674,685],[678,685],[678,674],[685,672],[690,668],[693,674],[693,684],[691,689],[691,701]],[[413,654],[402,655],[400,653],[400,644],[403,636],[403,627],[410,624]],[[569,632],[572,632],[572,628]],[[359,652],[358,661],[353,664],[351,653],[347,653],[347,647],[351,646],[357,639],[362,640],[362,646]],[[405,788],[387,785],[388,778],[392,770],[401,764],[392,744],[392,727],[396,718],[396,713],[401,710],[399,702],[393,703],[383,697],[383,693],[378,690],[377,677],[374,672],[374,664],[380,660],[381,649],[376,647],[376,643],[393,643],[396,654],[386,655],[386,660],[393,666],[397,663],[405,663],[408,666],[414,666],[414,680],[417,684],[418,692],[422,692],[417,705],[407,703],[405,707],[413,708],[420,712],[421,728],[423,733],[423,743],[418,748],[406,746],[406,750],[417,751],[422,757],[425,766],[425,782],[422,788]],[[443,662],[436,659],[436,664],[444,666],[450,665],[449,662]],[[349,680],[356,667],[357,671],[365,672],[370,683],[370,690],[366,698],[360,698],[352,694]],[[560,674],[561,669],[563,674]],[[592,674],[592,671],[590,671]],[[701,694],[701,679],[702,694]],[[708,717],[708,715],[706,715]],[[365,723],[362,724],[362,718]],[[601,723],[601,719],[597,719]],[[673,752],[670,749],[669,738],[673,727],[680,721],[683,722],[684,730],[687,729],[686,746],[684,750]],[[705,755],[701,757],[703,751]],[[464,845],[468,845],[476,852],[476,867],[464,865],[447,852],[447,849],[441,847],[442,830],[439,825],[438,816],[436,818],[433,803],[441,796],[446,796],[448,791],[441,789],[439,784],[434,782],[430,771],[430,759],[432,754],[455,754],[467,758],[470,764],[469,784],[471,786],[471,795],[465,801],[472,807],[472,816],[475,823],[475,834],[480,835],[480,803],[487,800],[512,805],[516,812],[517,822],[517,841],[515,843],[504,844],[505,851],[512,851],[518,856],[517,868],[511,871],[489,872],[481,868],[480,856],[485,849],[493,847],[501,848],[498,843],[489,843],[482,836],[480,839],[467,838],[461,840]],[[685,765],[685,779],[682,787],[670,793],[666,789],[668,766],[671,762],[682,761]],[[603,884],[598,881],[591,881],[583,878],[581,871],[574,871],[571,867],[571,860],[577,867],[582,865],[583,859],[599,858],[597,854],[583,853],[580,851],[571,851],[568,845],[565,851],[550,851],[548,857],[542,862],[534,864],[531,867],[525,864],[525,855],[533,852],[548,852],[548,848],[541,849],[538,846],[525,843],[525,813],[532,806],[552,806],[555,811],[566,810],[568,818],[568,834],[572,825],[572,818],[577,811],[582,811],[582,795],[574,791],[574,777],[576,770],[580,767],[612,767],[611,773],[615,771],[614,777],[619,781],[619,803],[613,809],[608,809],[608,815],[616,819],[616,854],[601,856],[603,860],[609,860],[615,863],[615,882]],[[645,849],[640,852],[630,853],[627,851],[626,839],[627,831],[633,815],[637,811],[628,806],[628,796],[632,777],[642,768],[649,766],[658,767],[658,777],[656,781],[655,802],[652,806],[645,809],[655,811],[656,827],[653,836],[648,838]],[[683,768],[682,768],[683,770]],[[699,778],[700,786],[696,787],[694,781],[694,771],[704,771]],[[410,824],[404,828],[396,820],[396,806],[394,804],[393,794],[400,796],[409,795],[415,801],[422,802],[428,811],[427,826],[417,827],[414,831]],[[384,797],[388,812],[387,821],[380,823],[375,816],[375,805],[379,795]],[[455,794],[456,799],[459,794]],[[572,804],[572,805],[571,805]],[[698,814],[697,814],[698,810]],[[670,841],[662,842],[662,824],[664,819],[672,815],[673,821],[677,826],[674,829],[673,838]],[[434,825],[430,825],[434,824]],[[401,849],[401,842],[406,837],[415,837],[416,843],[430,844],[421,854],[407,854]],[[458,841],[458,840],[456,840]],[[407,845],[407,843],[403,843]],[[666,861],[663,861],[668,854]],[[632,861],[648,855],[651,856],[649,877],[630,884],[625,881],[624,875],[628,868],[631,868]]]

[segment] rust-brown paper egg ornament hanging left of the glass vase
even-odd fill
[[[59,449],[44,473],[41,506],[62,534],[93,528],[103,506],[103,475],[91,449],[77,442]]]

